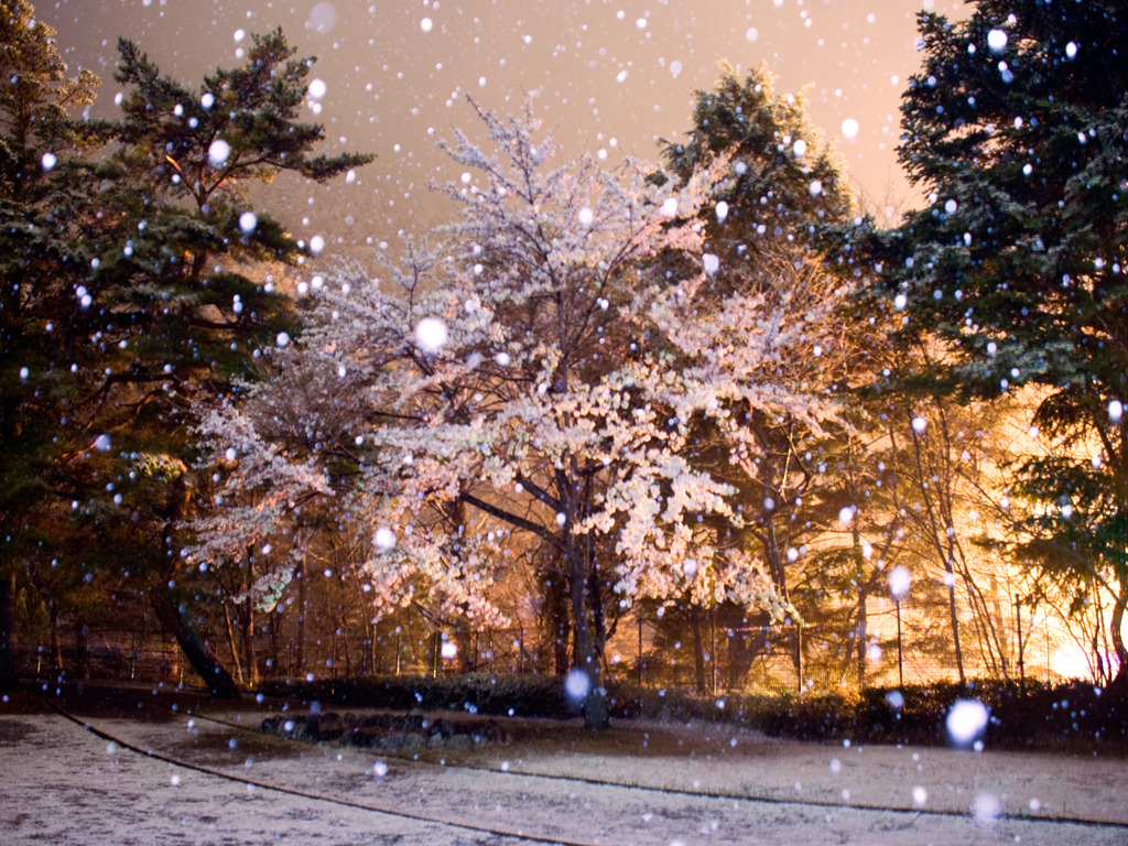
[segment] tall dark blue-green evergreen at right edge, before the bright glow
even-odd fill
[[[919,30],[899,156],[927,204],[871,239],[885,285],[871,305],[904,310],[899,342],[949,347],[918,386],[1030,386],[1052,447],[1020,468],[1037,508],[1017,553],[1098,575],[1128,680],[1128,11],[980,0],[954,24],[923,12]]]

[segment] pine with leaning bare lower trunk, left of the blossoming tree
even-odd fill
[[[138,557],[148,557],[138,562],[141,590],[213,691],[230,695],[233,685],[186,613],[200,589],[177,573],[173,530],[191,513],[192,404],[229,391],[232,378],[252,374],[263,345],[285,343],[296,331],[290,301],[270,275],[255,281],[241,268],[293,264],[303,245],[253,209],[246,186],[283,170],[325,182],[372,157],[311,156],[324,132],[298,118],[312,60],[296,59],[280,29],[253,36],[241,68],[204,77],[197,90],[161,76],[131,42],[118,50],[115,78],[132,88],[122,103],[120,146],[98,174],[108,206],[98,211],[117,215],[118,238],[96,256],[91,287],[116,317],[124,390],[112,412],[107,391],[99,411],[130,477],[157,474],[168,491],[161,497],[150,488],[148,520],[132,521],[126,532]]]

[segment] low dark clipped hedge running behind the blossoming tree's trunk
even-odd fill
[[[465,711],[491,715],[565,719],[578,707],[552,676],[473,675],[367,677],[312,682],[273,682],[262,693],[303,703],[396,711]],[[945,743],[945,720],[959,699],[976,699],[989,713],[985,742],[1005,748],[1118,748],[1128,751],[1128,695],[1084,682],[1025,691],[998,681],[967,686],[870,688],[823,696],[699,696],[685,689],[614,684],[608,689],[617,719],[723,722],[773,737],[841,742]]]

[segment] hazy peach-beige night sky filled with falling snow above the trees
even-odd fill
[[[689,126],[695,89],[717,62],[766,61],[777,91],[811,86],[816,123],[845,155],[867,210],[914,202],[896,161],[898,104],[919,62],[915,14],[959,15],[955,0],[59,0],[37,5],[59,30],[73,73],[103,80],[95,113],[109,115],[116,42],[136,42],[166,73],[196,88],[239,63],[250,33],[281,25],[325,94],[307,117],[325,124],[325,152],[378,158],[352,182],[280,180],[266,205],[298,237],[323,235],[327,254],[423,231],[449,218],[429,191],[459,169],[435,148],[473,126],[465,102],[501,112],[538,90],[536,112],[565,155],[606,150],[656,160],[655,139]],[[856,134],[852,136],[853,122]]]

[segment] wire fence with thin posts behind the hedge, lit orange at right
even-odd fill
[[[860,686],[928,684],[959,677],[950,624],[936,614],[906,614],[898,628],[897,609],[876,605],[867,619],[864,661],[858,660],[856,627],[828,624],[799,626],[723,626],[705,618],[699,642],[661,628],[654,620],[634,619],[620,626],[605,651],[606,675],[647,687],[702,687],[708,693],[741,689],[765,694],[839,691]],[[916,609],[919,611],[919,609]],[[229,632],[219,619],[203,618],[201,631],[220,660],[233,660]],[[468,633],[435,631],[425,620],[374,626],[364,633],[337,629],[317,636],[310,626],[305,643],[288,629],[256,629],[257,678],[342,677],[369,673],[439,675],[450,672],[552,673],[555,644],[532,626],[483,628]],[[1019,637],[1002,638],[1003,654],[985,660],[973,627],[961,620],[967,678],[1041,681],[1066,677],[1100,679],[1092,651],[1059,623],[1022,619]],[[149,679],[196,684],[175,642],[159,633],[88,626],[78,637],[63,632],[67,645],[18,644],[20,670],[51,677],[61,663],[70,677]],[[1111,671],[1105,656],[1104,671]]]

